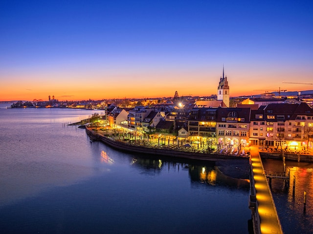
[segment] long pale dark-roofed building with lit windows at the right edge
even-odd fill
[[[251,110],[251,144],[294,148],[313,148],[313,109],[306,103],[268,104]]]

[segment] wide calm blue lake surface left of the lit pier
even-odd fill
[[[249,191],[214,164],[121,153],[63,124],[95,111],[5,106],[1,234],[248,233]]]

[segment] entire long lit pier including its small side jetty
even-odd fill
[[[267,177],[288,179],[288,176],[266,174],[256,146],[251,146],[250,170],[249,208],[254,234],[283,234]]]

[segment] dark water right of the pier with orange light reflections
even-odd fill
[[[309,234],[313,230],[313,163],[291,162],[264,159],[263,165],[271,172],[290,170],[289,187],[281,179],[272,179],[272,194],[278,216],[285,234]],[[293,194],[293,178],[295,190]],[[307,203],[304,212],[304,192],[307,193]]]

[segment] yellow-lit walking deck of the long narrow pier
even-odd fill
[[[259,149],[257,146],[251,146],[250,150],[261,234],[282,234],[283,231],[264,174]]]

